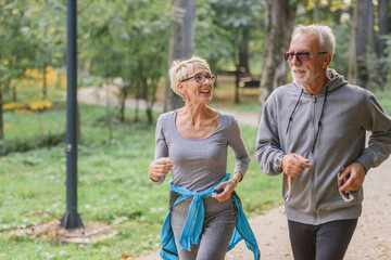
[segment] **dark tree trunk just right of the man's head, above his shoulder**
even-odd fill
[[[371,0],[358,0],[357,1],[357,38],[356,38],[356,50],[357,50],[357,83],[363,88],[368,86],[368,68],[367,68],[367,54],[366,43],[368,38],[368,23]]]

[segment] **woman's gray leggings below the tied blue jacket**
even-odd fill
[[[191,200],[185,199],[172,209],[171,223],[180,260],[224,260],[227,252],[237,218],[234,199],[219,203],[215,198],[207,197],[203,198],[203,202],[205,218],[201,242],[200,245],[192,245],[191,251],[179,249],[179,237]]]

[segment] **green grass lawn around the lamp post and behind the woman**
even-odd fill
[[[104,107],[80,106],[78,212],[83,221],[109,223],[118,234],[92,245],[7,236],[16,229],[60,219],[65,212],[66,193],[65,143],[11,153],[0,157],[0,259],[119,259],[123,252],[139,255],[159,248],[169,180],[157,186],[148,178],[154,125],[114,123],[109,142],[108,126],[101,120],[105,113]],[[133,113],[127,110],[126,115]],[[49,129],[60,132],[65,126],[64,110],[35,115],[5,113],[5,118],[18,130],[13,135],[7,129],[9,138]],[[256,129],[243,127],[242,135],[253,154]],[[228,169],[234,169],[234,161],[230,153]],[[264,176],[254,159],[238,185],[248,216],[281,203],[279,191],[280,178]]]

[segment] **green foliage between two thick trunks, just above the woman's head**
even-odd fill
[[[194,53],[207,58],[211,67],[218,72],[237,64],[240,48],[250,44],[250,58],[261,66],[264,28],[262,1],[203,0],[195,4]]]

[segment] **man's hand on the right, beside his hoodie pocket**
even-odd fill
[[[357,161],[354,161],[344,169],[338,181],[341,182],[348,176],[350,177],[346,180],[346,182],[340,187],[340,192],[357,191],[364,183],[364,179],[365,179],[364,166]]]

